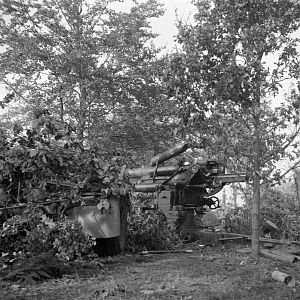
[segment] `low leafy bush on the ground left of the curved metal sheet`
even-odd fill
[[[0,230],[1,252],[18,257],[53,251],[57,258],[74,260],[91,251],[93,241],[77,221],[62,218],[53,222],[43,214],[14,216]]]

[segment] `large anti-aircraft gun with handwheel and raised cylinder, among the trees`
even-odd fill
[[[184,153],[188,144],[180,144],[151,159],[151,166],[128,171],[131,178],[139,179],[135,192],[155,193],[154,208],[159,208],[172,227],[188,226],[194,212],[205,213],[220,207],[215,196],[228,183],[246,181],[246,174],[226,174],[225,167],[206,155],[193,158],[184,154],[184,159],[171,165],[165,161]],[[193,218],[192,218],[193,219]]]

